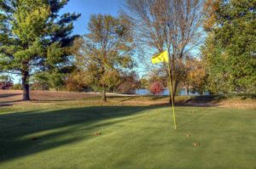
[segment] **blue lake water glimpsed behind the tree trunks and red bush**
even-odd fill
[[[153,95],[152,93],[150,93],[150,91],[149,91],[148,89],[137,89],[137,90],[135,91],[135,93],[136,93],[137,95],[142,95],[142,96],[143,96],[143,95]],[[160,96],[168,96],[168,95],[169,95],[169,89],[168,89],[168,88],[166,88],[166,89],[164,90],[164,92],[160,94]],[[187,95],[187,94],[186,94],[185,89],[181,89],[177,95],[184,96],[184,95]],[[195,95],[195,96],[197,96],[197,95],[200,95],[200,94],[197,93],[197,92],[195,92],[195,93],[189,92],[189,95]],[[204,93],[204,95],[209,95],[209,93],[206,92],[206,93]]]

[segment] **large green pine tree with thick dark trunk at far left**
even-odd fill
[[[41,70],[67,66],[79,14],[59,11],[68,0],[0,1],[0,70],[19,74],[23,100],[29,100],[30,77]]]

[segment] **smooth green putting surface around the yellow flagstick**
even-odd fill
[[[255,110],[176,110],[177,130],[166,106],[78,101],[0,108],[0,168],[256,167]]]

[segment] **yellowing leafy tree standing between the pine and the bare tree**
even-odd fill
[[[119,84],[119,70],[133,65],[131,23],[124,16],[94,14],[88,31],[74,45],[76,65],[84,72],[86,84],[102,91],[106,101],[106,91]]]

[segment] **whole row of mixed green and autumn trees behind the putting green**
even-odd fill
[[[30,86],[100,91],[104,101],[108,91],[159,94],[167,64],[174,96],[256,92],[253,0],[126,0],[118,16],[92,14],[86,35],[72,34],[80,14],[59,14],[67,3],[0,1],[0,71],[21,76],[23,100]],[[164,50],[170,62],[149,65]]]

